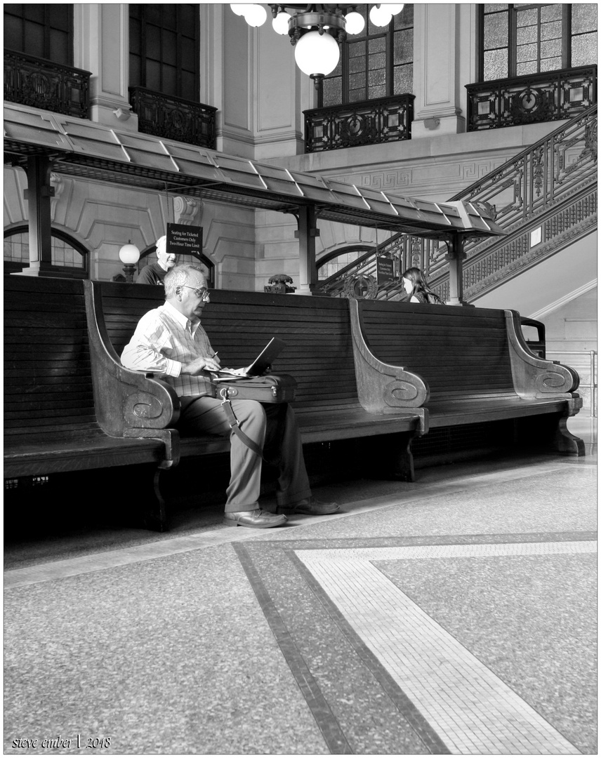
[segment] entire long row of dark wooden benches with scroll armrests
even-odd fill
[[[140,316],[161,302],[155,287],[5,277],[5,479],[150,465],[157,501],[147,525],[166,528],[161,471],[182,458],[224,453],[229,441],[180,439],[171,387],[121,366]],[[272,336],[285,340],[274,369],[299,381],[303,442],[369,437],[374,459],[388,455],[390,473],[412,481],[412,448],[438,428],[510,419],[518,440],[584,453],[565,428],[580,403],[575,372],[533,356],[516,319],[513,312],[214,291],[203,324],[232,366],[247,365]],[[364,470],[370,466],[366,455]]]

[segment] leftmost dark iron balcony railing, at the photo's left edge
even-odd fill
[[[80,68],[5,50],[5,100],[77,118],[88,117],[89,77]]]

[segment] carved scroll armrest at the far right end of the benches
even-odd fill
[[[534,398],[574,397],[580,384],[578,372],[571,366],[534,356],[524,340],[518,312],[506,310],[505,317],[516,393],[521,397]]]

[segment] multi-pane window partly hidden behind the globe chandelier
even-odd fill
[[[367,19],[365,29],[343,43],[336,69],[322,83],[320,108],[413,91],[413,5],[384,28],[371,23],[367,5],[357,11]]]

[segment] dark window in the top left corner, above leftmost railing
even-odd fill
[[[73,65],[73,5],[5,3],[5,48]]]

